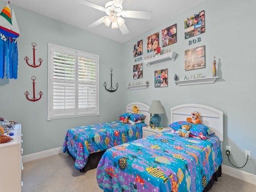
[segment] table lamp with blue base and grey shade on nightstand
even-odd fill
[[[151,120],[153,122],[153,125],[155,127],[159,127],[161,117],[158,114],[164,114],[164,108],[160,101],[153,100],[150,108],[148,110],[148,113],[154,113],[154,116],[152,116]]]

